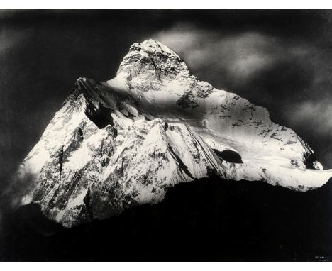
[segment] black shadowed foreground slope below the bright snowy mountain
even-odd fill
[[[309,192],[209,178],[164,201],[64,229],[25,207],[7,223],[1,260],[332,260],[332,181]]]

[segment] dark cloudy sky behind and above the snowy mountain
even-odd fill
[[[147,38],[200,79],[267,107],[332,167],[331,19],[326,10],[0,11],[1,184],[75,80],[111,79]]]

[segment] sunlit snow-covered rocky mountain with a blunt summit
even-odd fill
[[[18,205],[72,227],[218,176],[305,192],[332,170],[268,111],[215,89],[155,40],[135,43],[107,82],[79,78],[18,170]]]

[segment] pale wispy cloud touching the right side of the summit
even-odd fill
[[[203,70],[210,67],[209,72],[216,70],[241,84],[280,60],[304,57],[309,52],[301,45],[255,31],[220,33],[182,23],[155,33],[153,38],[179,53],[193,72],[204,75]]]

